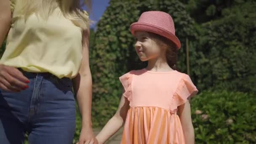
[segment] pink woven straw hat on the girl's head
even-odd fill
[[[152,32],[173,41],[177,49],[181,47],[181,42],[175,36],[173,19],[168,13],[163,11],[147,11],[142,13],[138,22],[131,24],[130,29],[133,36],[136,31]]]

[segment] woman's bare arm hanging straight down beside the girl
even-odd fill
[[[91,122],[92,77],[89,67],[89,30],[83,32],[83,59],[78,75],[73,79],[74,91],[82,115],[79,144],[94,138]]]

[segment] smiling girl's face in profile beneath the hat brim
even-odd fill
[[[141,61],[156,59],[163,53],[163,48],[150,37],[148,32],[136,31],[134,37],[135,50]]]

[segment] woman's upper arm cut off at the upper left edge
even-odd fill
[[[11,2],[0,1],[0,46],[3,44],[6,34],[11,27]]]

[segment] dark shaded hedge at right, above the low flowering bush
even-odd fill
[[[200,89],[256,93],[256,3],[224,9],[221,19],[200,27],[192,74]]]

